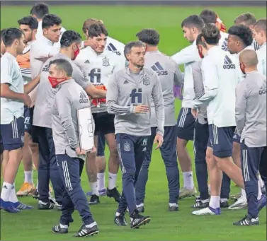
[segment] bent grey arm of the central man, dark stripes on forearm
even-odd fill
[[[108,81],[108,92],[106,102],[108,105],[109,114],[130,114],[133,112],[134,107],[118,105],[118,82],[116,80],[116,74],[113,74]]]

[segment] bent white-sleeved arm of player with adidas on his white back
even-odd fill
[[[203,75],[204,91],[198,97],[195,97],[192,102],[193,109],[198,109],[200,105],[208,104],[218,93],[219,76],[217,67],[210,59],[203,59],[201,64]]]

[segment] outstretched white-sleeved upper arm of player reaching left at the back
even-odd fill
[[[187,64],[200,59],[198,49],[195,45],[185,47],[180,52],[174,54],[171,58],[174,59],[178,65]]]

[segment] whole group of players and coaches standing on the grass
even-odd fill
[[[151,220],[141,213],[153,145],[166,167],[169,211],[178,211],[178,199],[196,195],[186,148],[194,141],[200,196],[193,214],[247,206],[234,225],[259,225],[266,206],[266,18],[244,13],[227,31],[206,9],[188,16],[181,28],[191,45],[172,57],[159,51],[157,30],[140,30],[137,41],[124,45],[96,18],[85,20],[82,41],[44,3],[18,20],[18,28],[1,30],[1,209],[32,209],[17,198],[32,194],[38,209],[62,211],[54,233],[68,233],[72,213],[79,211],[83,224],[75,236],[84,237],[99,232],[89,204],[106,195],[118,202],[115,224],[127,225],[128,211],[130,227],[139,228]],[[177,121],[175,98],[182,99]],[[79,143],[81,108],[92,112],[91,151]],[[16,193],[21,160],[25,180]],[[80,183],[84,163],[89,202]],[[116,187],[119,167],[122,194]],[[242,193],[229,206],[231,180]]]

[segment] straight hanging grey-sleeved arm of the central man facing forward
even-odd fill
[[[164,101],[159,77],[155,75],[156,81],[152,89],[152,99],[155,106],[156,119],[157,119],[157,134],[164,135]]]

